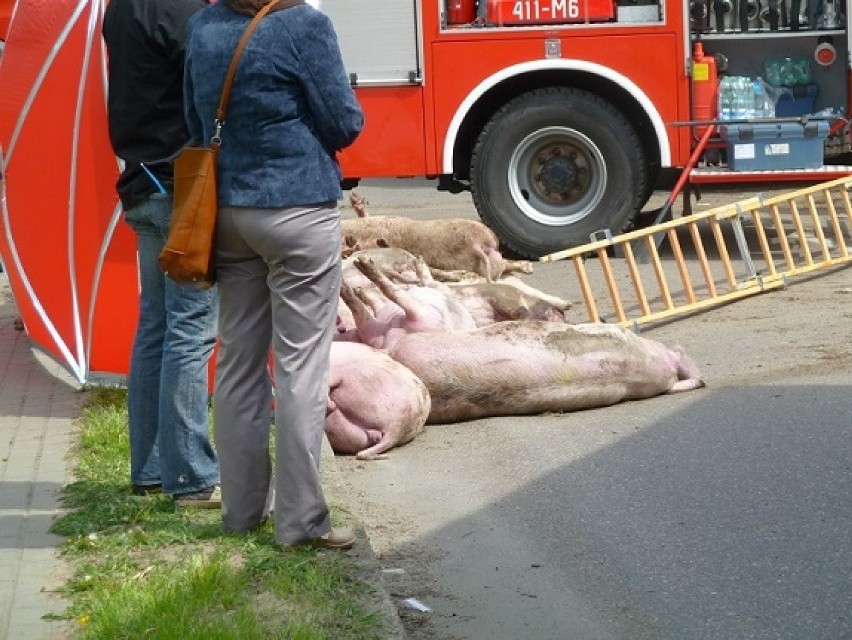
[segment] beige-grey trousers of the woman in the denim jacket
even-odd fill
[[[331,529],[319,456],[340,293],[339,217],[335,202],[220,209],[213,420],[222,521],[230,531],[261,523],[272,488],[279,543],[317,538]]]

